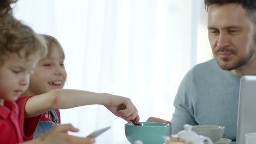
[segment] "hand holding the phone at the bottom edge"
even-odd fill
[[[55,125],[44,134],[39,135],[37,140],[39,143],[83,143],[92,144],[95,142],[94,138],[77,137],[68,135],[67,131],[77,132],[78,129],[74,128],[71,124]]]

